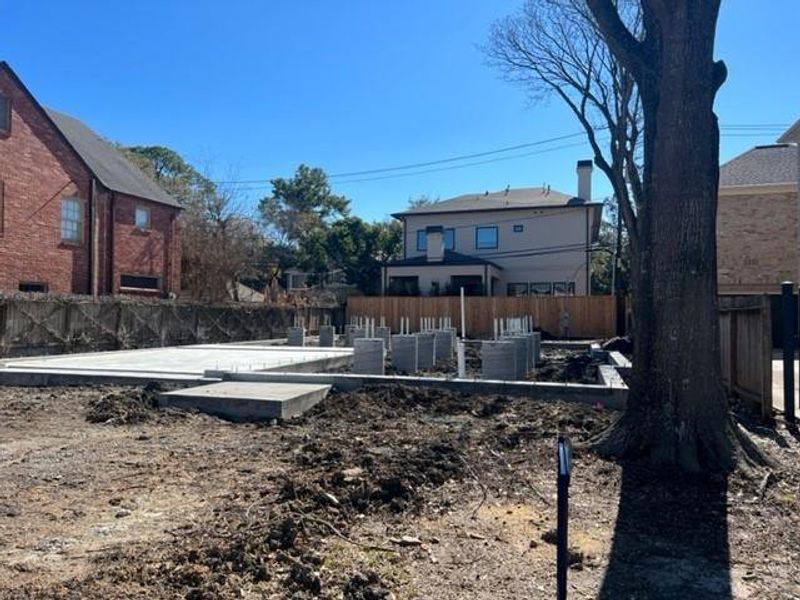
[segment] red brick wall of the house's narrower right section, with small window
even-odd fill
[[[150,209],[150,228],[134,226],[137,206]],[[123,194],[113,195],[113,240],[111,281],[114,293],[131,293],[122,287],[121,276],[149,275],[159,278],[160,292],[180,291],[180,247],[178,211],[155,202]],[[158,293],[158,292],[139,292]]]

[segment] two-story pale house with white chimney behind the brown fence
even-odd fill
[[[592,162],[577,172],[577,196],[506,188],[392,215],[403,258],[383,268],[384,294],[588,294],[603,206],[591,201]]]

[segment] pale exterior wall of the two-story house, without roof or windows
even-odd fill
[[[417,250],[417,230],[430,225],[455,229],[455,247],[461,254],[481,256],[496,263],[500,282],[495,295],[505,295],[509,283],[573,282],[576,294],[586,294],[585,251],[587,239],[591,240],[593,206],[576,206],[553,209],[520,209],[407,215],[405,227],[406,257],[424,255]],[[498,247],[475,248],[475,228],[497,225]],[[522,225],[521,233],[514,225]],[[562,250],[565,246],[573,249]],[[522,257],[497,256],[503,252],[541,250],[541,254]],[[482,269],[482,267],[481,267]],[[406,268],[407,271],[410,269]],[[420,269],[420,289],[424,275]]]

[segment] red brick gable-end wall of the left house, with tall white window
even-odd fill
[[[11,133],[0,135],[4,185],[0,288],[46,282],[51,292],[89,293],[90,174],[16,83],[0,70],[0,93],[11,98]],[[83,241],[60,236],[60,202],[84,204]]]

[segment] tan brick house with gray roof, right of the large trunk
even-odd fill
[[[717,277],[720,293],[776,294],[800,280],[800,121],[775,144],[720,167]]]

